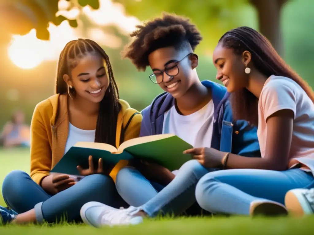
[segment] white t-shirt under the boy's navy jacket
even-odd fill
[[[214,102],[211,100],[203,108],[190,115],[180,115],[172,106],[165,112],[164,134],[175,134],[194,148],[210,147],[213,135]]]

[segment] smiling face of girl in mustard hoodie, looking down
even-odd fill
[[[110,82],[104,67],[105,60],[95,53],[87,53],[76,62],[71,76],[63,76],[64,81],[74,88],[76,95],[99,103],[104,98]]]

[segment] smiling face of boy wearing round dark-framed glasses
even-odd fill
[[[148,61],[154,79],[174,98],[183,96],[192,86],[192,70],[198,65],[198,59],[190,50],[160,48],[149,54]]]

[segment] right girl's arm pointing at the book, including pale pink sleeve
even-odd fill
[[[293,122],[297,107],[296,93],[299,88],[289,80],[273,79],[264,85],[259,97],[260,118],[264,118],[267,136],[262,149],[262,158],[244,157],[229,154],[226,168],[229,169],[264,169],[287,170],[292,141]],[[263,130],[261,130],[263,131]],[[192,154],[206,167],[221,167],[227,153],[213,148],[188,149],[185,154]]]

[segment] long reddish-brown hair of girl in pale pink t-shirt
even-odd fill
[[[284,76],[298,83],[314,103],[314,92],[276,52],[269,40],[256,30],[239,27],[226,32],[219,43],[225,48],[233,49],[236,55],[249,51],[252,64],[265,76]],[[232,112],[236,120],[244,119],[258,125],[258,98],[243,88],[230,95]]]

